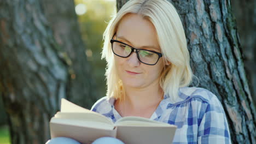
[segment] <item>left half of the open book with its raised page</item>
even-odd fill
[[[88,144],[103,136],[115,137],[117,129],[111,119],[62,99],[61,111],[51,118],[50,134]]]

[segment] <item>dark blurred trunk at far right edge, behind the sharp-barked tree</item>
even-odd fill
[[[232,11],[236,17],[237,31],[240,35],[241,46],[245,56],[245,69],[249,87],[256,101],[256,1],[232,0]],[[255,103],[254,103],[255,106]]]

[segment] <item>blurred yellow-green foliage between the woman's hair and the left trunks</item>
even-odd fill
[[[101,60],[103,47],[102,34],[107,22],[116,13],[115,1],[110,0],[75,0],[75,5],[85,4],[86,13],[78,15],[80,31],[85,43],[86,55],[92,65],[92,73],[96,79],[97,91],[101,97],[106,95],[105,68],[106,61]]]

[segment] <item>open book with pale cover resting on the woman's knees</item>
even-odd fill
[[[170,144],[176,126],[142,117],[123,117],[113,123],[100,113],[61,99],[61,111],[50,120],[51,138],[70,137],[81,143],[111,136],[125,144]]]

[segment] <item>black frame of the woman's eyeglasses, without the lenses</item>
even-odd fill
[[[113,37],[114,37],[114,35],[113,35]],[[131,53],[132,53],[132,52],[135,52],[135,53],[136,53],[139,62],[142,62],[141,59],[139,59],[139,54],[138,54],[138,51],[139,51],[139,50],[150,51],[150,52],[156,53],[156,54],[158,55],[158,61],[159,61],[159,59],[162,57],[162,53],[160,53],[160,52],[151,51],[151,50],[146,50],[146,49],[136,49],[136,48],[134,48],[134,47],[132,47],[132,46],[130,46],[130,45],[128,45],[128,44],[123,43],[122,41],[115,40],[115,39],[112,38],[112,39],[110,40],[110,43],[111,43],[112,51],[113,51],[113,53],[114,53],[115,55],[117,55],[117,53],[115,53],[114,50],[113,50],[113,43],[114,43],[114,42],[121,43],[121,44],[124,44],[124,45],[127,45],[127,46],[131,47],[131,49],[132,49],[132,50],[131,50]],[[128,56],[126,56],[126,57],[131,56],[131,53],[130,53]],[[119,56],[119,55],[117,55],[117,56]],[[119,56],[119,57],[123,57],[123,56]],[[124,57],[124,58],[126,58],[126,57]],[[154,64],[148,64],[148,63],[144,63],[144,62],[142,62],[142,63],[148,64],[148,65],[155,65],[156,63],[158,63],[158,61],[156,61]]]

